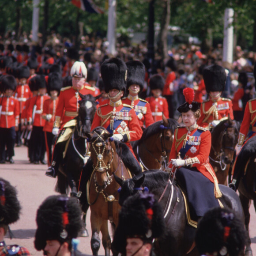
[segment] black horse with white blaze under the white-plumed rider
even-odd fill
[[[56,192],[68,194],[69,188],[74,196],[79,186],[79,179],[83,166],[90,158],[86,133],[90,132],[90,127],[94,114],[96,112],[96,99],[90,94],[80,94],[82,100],[79,102],[78,116],[72,119],[72,126],[68,127],[72,130],[72,134],[67,143],[64,144],[64,158],[61,159],[58,180],[56,184]],[[68,123],[67,123],[68,124]],[[65,128],[65,126],[64,126]],[[61,152],[62,154],[62,152]],[[89,208],[86,197],[82,198],[82,210],[84,212],[83,220],[85,223],[86,213]],[[87,236],[87,234],[86,234]]]

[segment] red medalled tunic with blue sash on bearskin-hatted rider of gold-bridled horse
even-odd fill
[[[108,130],[109,133],[122,134],[124,143],[132,151],[130,141],[135,141],[141,138],[142,129],[140,128],[138,118],[132,106],[123,104],[122,101],[99,106],[94,116],[91,125],[91,131],[102,126]]]

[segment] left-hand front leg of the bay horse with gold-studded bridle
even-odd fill
[[[90,248],[94,256],[98,256],[98,251],[101,245],[100,240],[100,229],[102,226],[102,220],[95,211],[90,213],[90,226],[91,226],[91,239],[90,239]]]

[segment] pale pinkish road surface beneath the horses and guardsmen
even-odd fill
[[[15,147],[15,164],[6,163],[0,165],[0,177],[10,181],[18,190],[22,212],[18,222],[12,224],[11,230],[14,238],[5,238],[7,244],[18,244],[29,249],[31,255],[43,255],[34,248],[34,234],[36,230],[36,212],[39,205],[47,196],[54,195],[56,179],[45,176],[45,165],[34,165],[28,161],[27,148]],[[256,214],[253,204],[250,207],[250,237],[252,239],[252,251],[256,255]],[[87,228],[90,232],[90,212],[87,214]],[[78,256],[92,255],[90,249],[90,237],[79,237]],[[99,255],[105,255],[101,245]]]

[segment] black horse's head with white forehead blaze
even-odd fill
[[[79,101],[79,110],[77,117],[77,129],[79,136],[86,137],[85,133],[90,132],[92,120],[96,111],[96,98],[92,95],[83,95],[79,93],[82,100]]]

